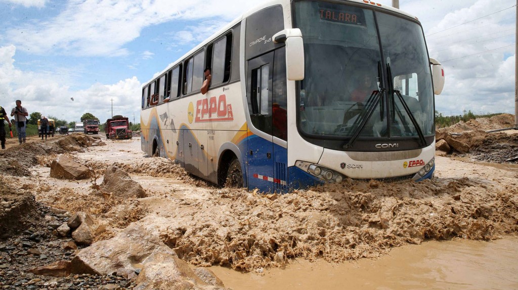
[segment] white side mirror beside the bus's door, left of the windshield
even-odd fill
[[[275,43],[286,43],[286,77],[289,80],[304,79],[304,41],[298,28],[284,29],[272,39]]]

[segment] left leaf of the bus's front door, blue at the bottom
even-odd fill
[[[248,138],[248,188],[274,191],[274,143],[272,137],[272,74],[274,52],[248,62],[247,102],[254,135]]]

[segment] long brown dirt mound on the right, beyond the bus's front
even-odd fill
[[[439,128],[439,132],[464,133],[472,130],[497,130],[514,127],[514,115],[501,114],[491,118],[477,118],[468,122],[459,122],[446,128]]]

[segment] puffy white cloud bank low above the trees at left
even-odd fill
[[[22,71],[15,66],[16,47],[0,47],[0,92],[2,104],[6,108],[14,107],[15,100],[22,100],[22,105],[29,114],[38,111],[45,116],[78,121],[85,112],[90,112],[101,121],[113,114],[130,115],[139,113],[141,84],[137,77],[120,80],[116,84],[94,84],[88,89],[74,91],[62,85],[61,78],[51,74],[37,74]],[[30,79],[31,82],[27,82]],[[74,101],[70,100],[74,98]],[[136,111],[137,110],[137,111]],[[129,117],[129,116],[128,116]]]

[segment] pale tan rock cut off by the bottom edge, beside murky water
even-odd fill
[[[187,263],[177,256],[157,253],[154,260],[144,265],[136,280],[135,290],[159,289],[214,289],[198,278]]]

